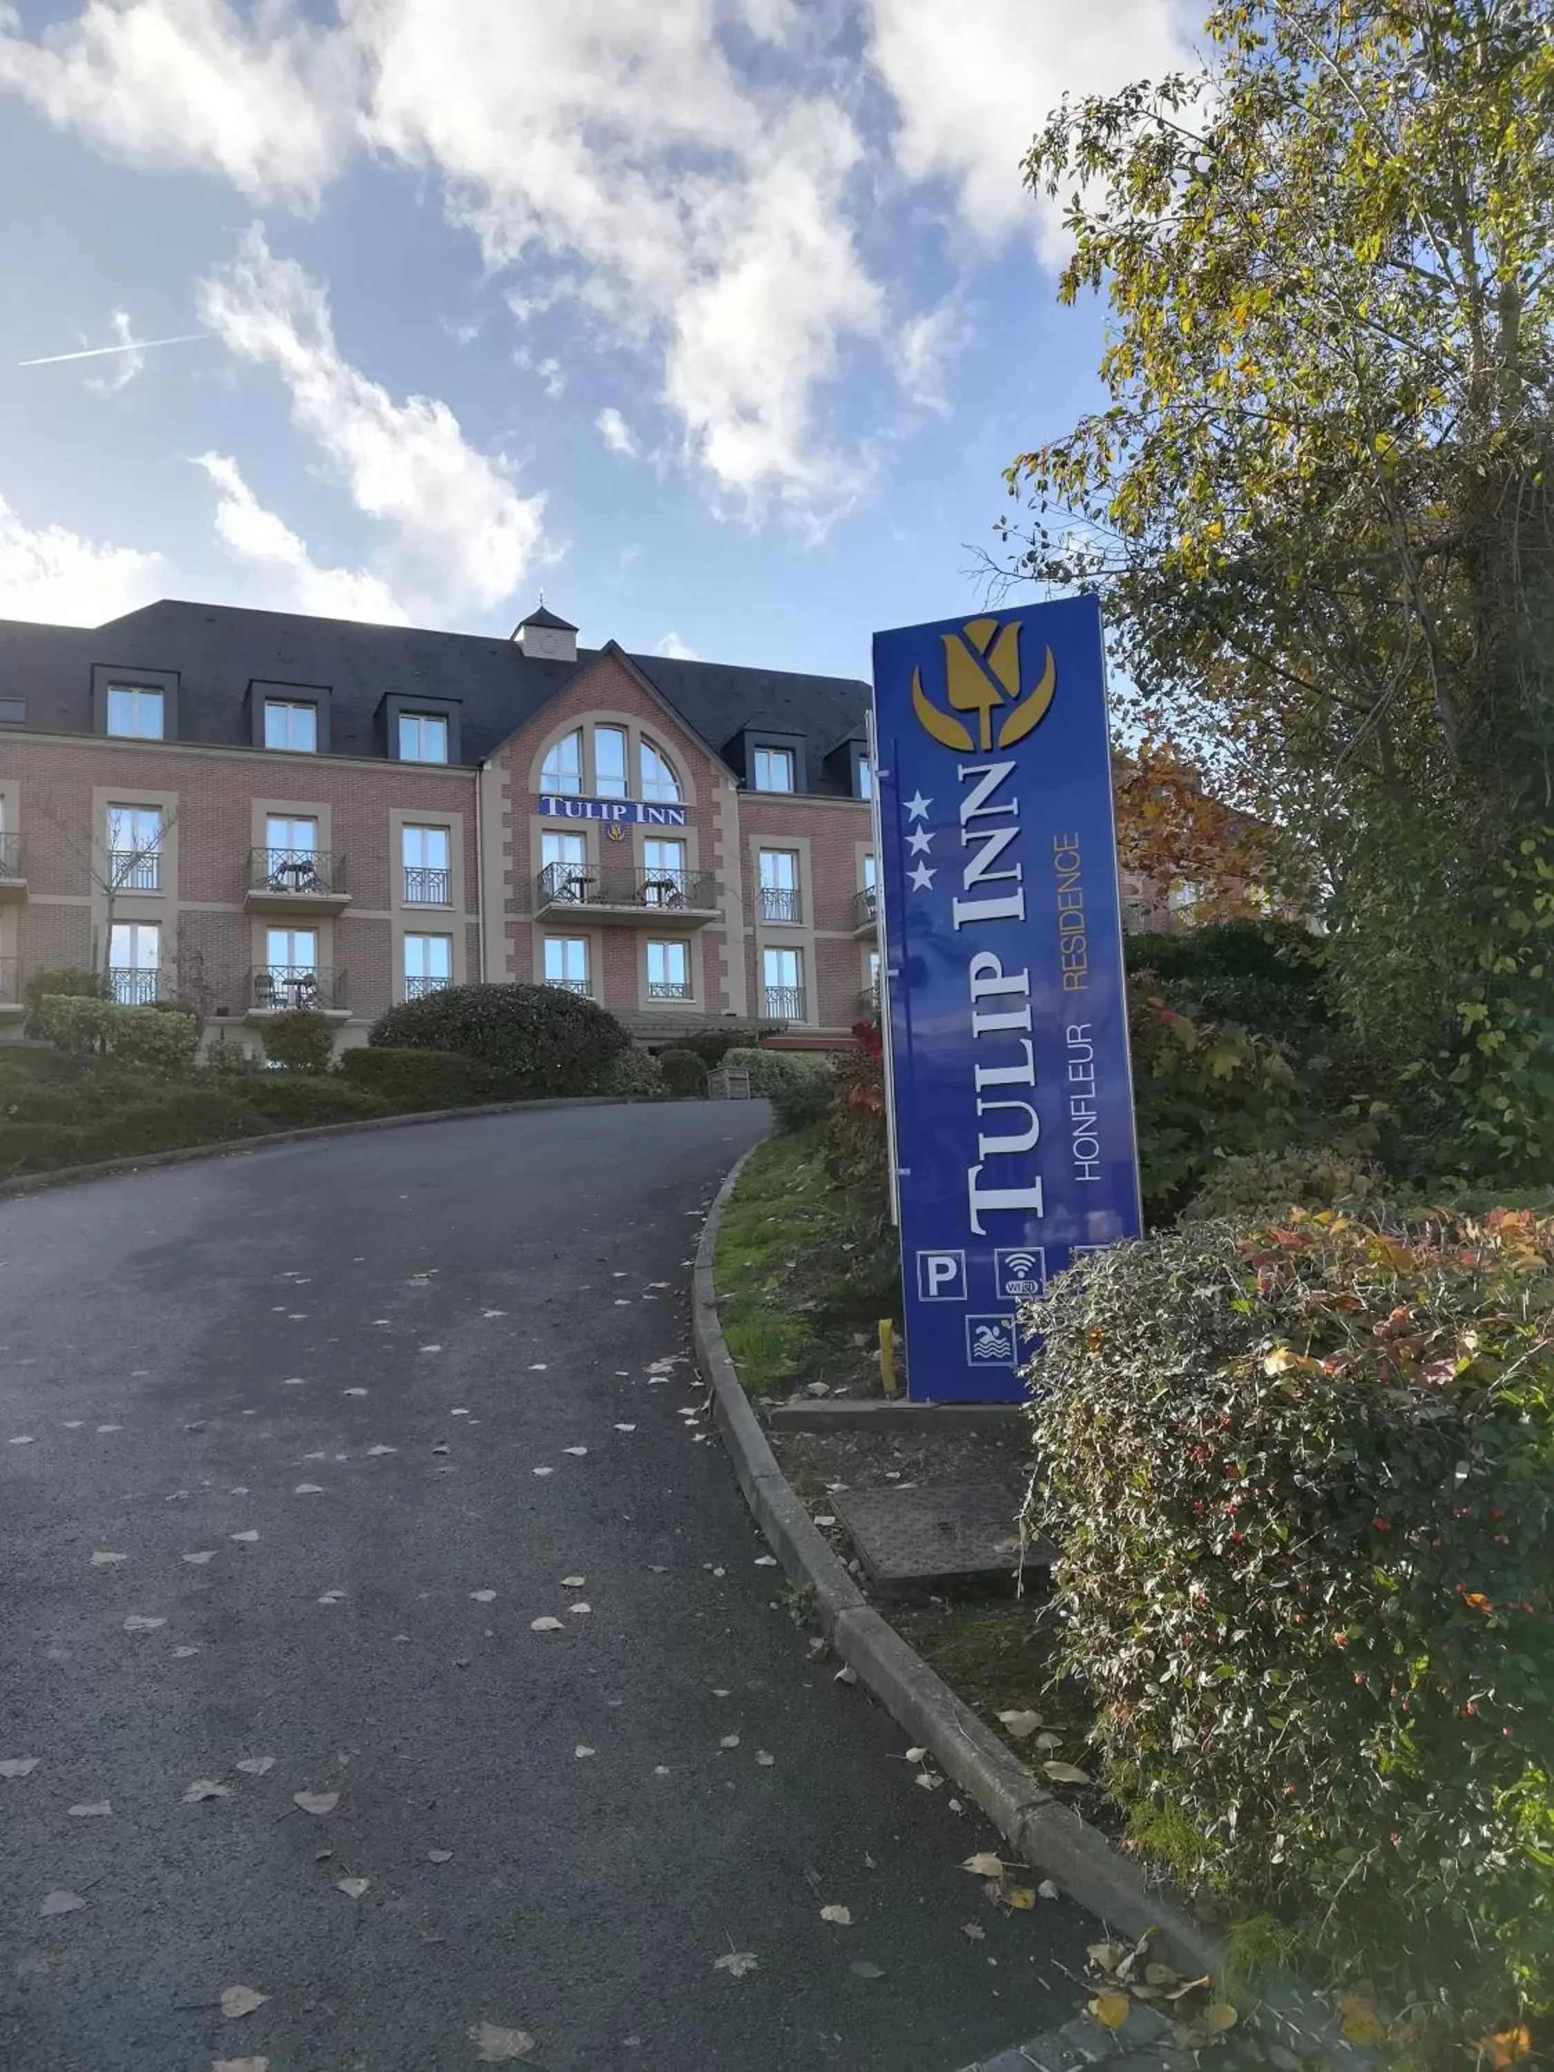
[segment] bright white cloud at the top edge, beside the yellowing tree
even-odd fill
[[[1021,182],[1036,126],[1065,93],[1109,93],[1183,64],[1193,19],[1185,0],[870,0],[870,56],[901,116],[901,170],[947,178],[988,238],[1034,222],[1046,259],[1067,240],[1061,201],[1038,203]]]

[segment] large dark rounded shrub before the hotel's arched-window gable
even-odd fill
[[[630,1036],[597,1001],[562,986],[445,986],[390,1007],[375,1048],[458,1051],[514,1082],[514,1098],[597,1094]]]

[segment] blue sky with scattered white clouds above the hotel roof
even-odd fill
[[[1183,0],[0,0],[0,615],[868,671],[1098,400],[1017,162]],[[205,334],[21,367],[122,340]]]

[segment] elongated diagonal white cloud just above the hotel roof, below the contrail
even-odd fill
[[[276,259],[263,230],[201,282],[199,313],[232,354],[282,377],[296,427],[387,528],[396,593],[437,615],[491,609],[518,588],[541,549],[543,495],[520,495],[510,464],[472,448],[445,402],[396,402],[342,358],[323,288]]]

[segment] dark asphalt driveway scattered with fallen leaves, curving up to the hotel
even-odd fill
[[[762,1119],[0,1204],[8,2072],[949,2072],[1075,2012],[1092,1925],[957,1869],[990,1830],[808,1660],[696,1415]]]

